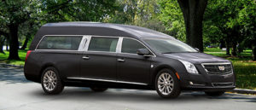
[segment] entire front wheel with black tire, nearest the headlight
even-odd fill
[[[177,76],[170,69],[163,69],[158,72],[154,87],[158,95],[163,98],[177,98],[181,93]]]

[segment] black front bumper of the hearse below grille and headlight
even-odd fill
[[[208,74],[201,65],[195,67],[200,72],[199,74],[181,73],[180,84],[182,90],[218,91],[236,88],[234,72],[230,74]]]

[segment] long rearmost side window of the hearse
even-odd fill
[[[77,50],[82,36],[46,36],[38,45],[38,49]]]

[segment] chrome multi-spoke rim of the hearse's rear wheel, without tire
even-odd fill
[[[45,72],[43,83],[45,90],[54,90],[57,84],[57,77],[55,72],[53,72],[52,70]]]

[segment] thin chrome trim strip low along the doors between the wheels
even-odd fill
[[[69,78],[69,79],[80,79],[80,80],[93,80],[93,81],[103,81],[103,82],[121,83],[121,84],[141,84],[141,85],[148,85],[148,84],[136,83],[136,82],[115,81],[115,80],[97,79],[97,78],[75,78],[75,77],[68,77],[68,78]]]

